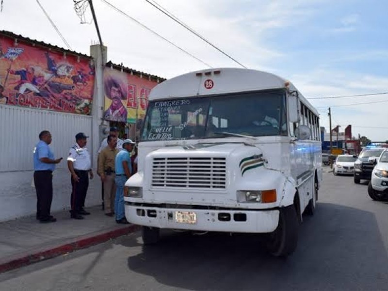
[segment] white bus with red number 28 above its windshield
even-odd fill
[[[270,73],[202,70],[157,85],[126,182],[125,212],[145,244],[161,228],[266,234],[275,256],[296,248],[322,181],[318,112]]]

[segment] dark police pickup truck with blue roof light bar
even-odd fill
[[[360,183],[361,179],[370,180],[372,177],[372,170],[376,163],[376,159],[380,157],[381,153],[386,147],[366,146],[361,151],[355,162],[354,182]]]

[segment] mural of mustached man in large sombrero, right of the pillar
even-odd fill
[[[148,95],[158,83],[110,67],[104,70],[105,108],[104,119],[109,121],[136,122],[146,114]]]

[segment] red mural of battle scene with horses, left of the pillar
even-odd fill
[[[14,41],[0,38],[0,104],[91,114],[89,59]]]

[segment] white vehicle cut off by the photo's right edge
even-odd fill
[[[368,194],[373,200],[388,200],[388,149],[384,150],[376,161],[368,185]]]

